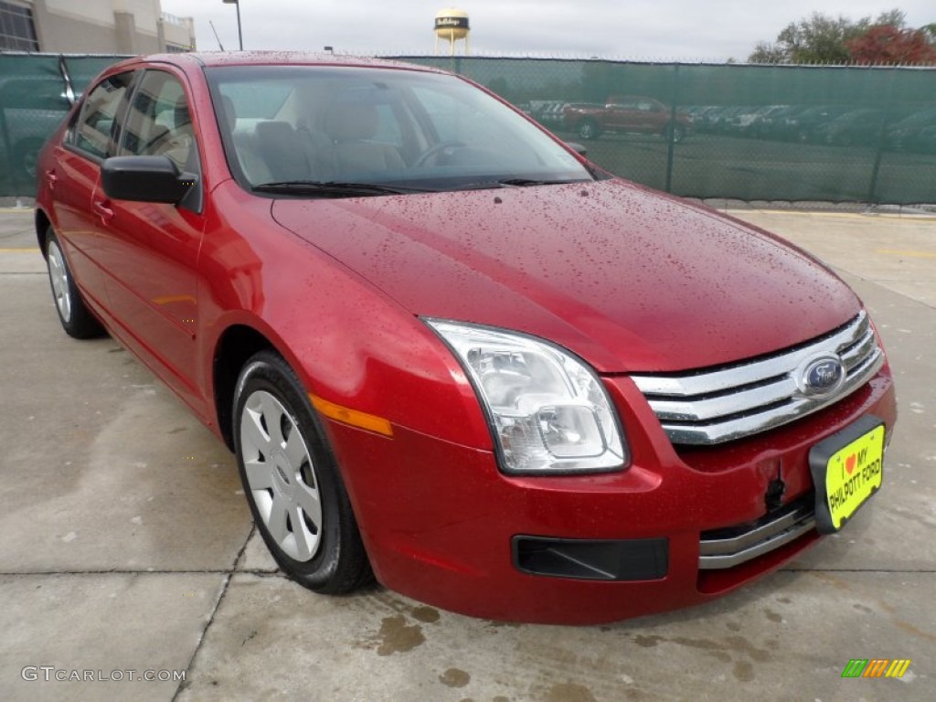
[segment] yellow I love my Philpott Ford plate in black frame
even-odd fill
[[[838,532],[881,487],[884,439],[884,422],[878,417],[862,417],[812,447],[810,467],[820,534]]]

